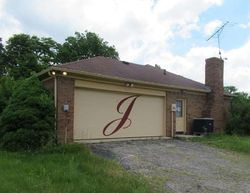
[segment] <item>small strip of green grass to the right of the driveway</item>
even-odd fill
[[[192,141],[250,155],[250,136],[210,134]]]

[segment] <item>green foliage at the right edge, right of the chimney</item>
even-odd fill
[[[228,87],[233,94],[231,100],[230,117],[226,132],[229,134],[250,135],[250,96],[245,92],[238,92],[235,87]]]

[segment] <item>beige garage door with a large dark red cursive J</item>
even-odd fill
[[[164,97],[75,89],[74,140],[164,133]]]

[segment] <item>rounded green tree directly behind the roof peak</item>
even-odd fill
[[[58,58],[61,63],[91,58],[95,56],[105,56],[118,58],[119,54],[114,46],[109,46],[93,32],[79,33],[69,36],[60,46]]]

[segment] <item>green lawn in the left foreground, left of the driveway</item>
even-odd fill
[[[0,151],[0,193],[147,193],[148,182],[83,145]]]

